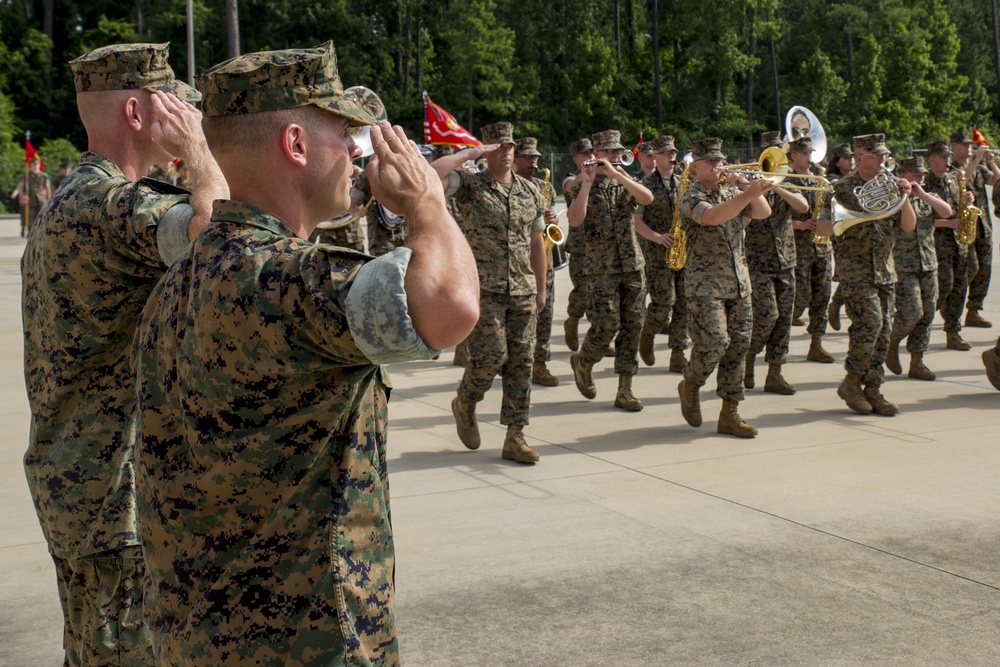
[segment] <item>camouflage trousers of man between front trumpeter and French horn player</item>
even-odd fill
[[[748,352],[757,356],[766,349],[764,361],[783,364],[788,359],[795,308],[795,269],[774,273],[751,269],[753,286],[753,334]]]

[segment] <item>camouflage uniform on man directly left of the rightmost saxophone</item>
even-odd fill
[[[958,210],[958,178],[949,171],[942,177],[933,172],[924,179],[924,190],[932,192]],[[939,227],[934,230],[934,245],[938,262],[938,310],[946,333],[962,330],[962,312],[969,289],[969,248],[955,240],[955,230]]]

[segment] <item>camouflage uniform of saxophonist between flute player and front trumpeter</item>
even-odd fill
[[[677,185],[680,180],[678,167],[675,166],[669,179],[663,178],[659,171],[654,170],[642,181],[653,193],[653,203],[639,206],[636,213],[641,213],[646,226],[657,234],[667,234],[673,226]],[[670,349],[686,350],[688,338],[684,270],[674,271],[667,266],[669,251],[661,244],[646,238],[641,238],[639,243],[646,262],[646,291],[649,292],[644,326],[647,331],[655,334],[670,322]]]

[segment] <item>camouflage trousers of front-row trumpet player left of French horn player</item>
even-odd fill
[[[701,387],[719,367],[715,393],[727,401],[743,400],[743,364],[753,332],[753,305],[748,294],[735,299],[688,297],[691,361],[684,379]]]

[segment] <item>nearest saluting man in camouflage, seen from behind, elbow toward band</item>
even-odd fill
[[[442,343],[471,327],[471,254],[433,192],[406,211],[424,245],[373,259],[306,240],[317,211],[349,203],[360,148],[346,128],[374,121],[344,98],[330,43],[239,56],[198,84],[206,133],[250,201],[215,202],[136,333],[138,510],[157,664],[398,665],[381,364],[432,356],[420,321],[442,322]],[[267,115],[279,110],[292,113]],[[263,116],[259,137],[233,127],[250,113]],[[286,123],[306,128],[319,165],[292,164],[278,142],[257,140]],[[435,184],[388,124],[371,136],[376,190],[386,170],[398,176],[389,201]],[[288,199],[319,170],[332,179],[324,198]],[[276,206],[281,219],[268,213]],[[428,250],[452,265],[418,266]],[[404,291],[445,273],[456,281],[431,304]]]

